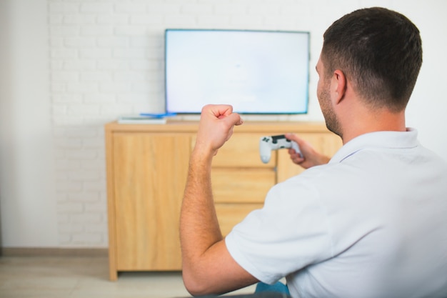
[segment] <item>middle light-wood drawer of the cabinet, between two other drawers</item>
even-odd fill
[[[263,203],[276,173],[274,169],[216,168],[211,181],[216,203]]]

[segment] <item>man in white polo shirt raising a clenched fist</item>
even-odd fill
[[[422,63],[419,31],[387,9],[353,11],[324,34],[317,95],[343,147],[298,136],[308,168],[268,192],[224,239],[211,160],[241,117],[205,106],[181,209],[184,283],[218,294],[286,277],[292,297],[447,297],[447,164],[407,129]]]

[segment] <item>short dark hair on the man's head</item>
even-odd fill
[[[323,37],[326,74],[343,71],[370,106],[406,108],[422,64],[421,36],[406,16],[381,7],[358,9]]]

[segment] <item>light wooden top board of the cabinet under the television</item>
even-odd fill
[[[166,124],[119,124],[114,121],[105,125],[109,132],[193,132],[199,127],[199,121],[168,121]],[[238,132],[328,132],[323,122],[304,121],[246,121],[235,126]]]

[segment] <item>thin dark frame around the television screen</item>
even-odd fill
[[[167,44],[168,40],[166,38],[168,31],[242,31],[242,32],[267,32],[267,33],[292,33],[292,34],[306,34],[307,36],[307,79],[306,79],[306,109],[305,111],[271,111],[271,112],[263,112],[263,111],[237,111],[239,114],[247,114],[247,115],[304,115],[308,114],[309,109],[309,82],[310,82],[310,59],[311,59],[311,33],[310,31],[294,31],[294,30],[261,30],[261,29],[185,29],[185,28],[168,28],[165,29],[164,32],[164,104],[165,104],[165,112],[166,113],[175,113],[179,115],[198,115],[201,114],[201,111],[169,111],[168,110],[168,92],[167,92]]]

